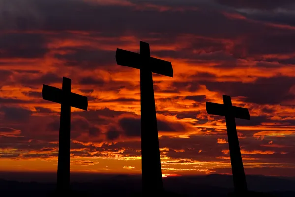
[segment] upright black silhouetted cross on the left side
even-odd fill
[[[64,192],[70,186],[71,107],[87,110],[87,97],[72,93],[71,79],[66,77],[62,89],[43,85],[42,96],[44,100],[61,104],[57,191]]]

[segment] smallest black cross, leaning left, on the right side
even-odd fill
[[[235,118],[250,120],[248,109],[232,105],[230,96],[223,95],[223,104],[206,102],[208,114],[225,116],[235,193],[245,194],[247,182],[238,142]]]

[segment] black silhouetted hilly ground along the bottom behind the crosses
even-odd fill
[[[5,177],[9,173],[2,173]],[[37,197],[40,193],[52,196],[56,188],[55,174],[22,173],[23,181],[0,180],[1,196]],[[10,174],[11,175],[11,174]],[[26,177],[27,175],[27,177]],[[11,176],[13,177],[13,176]],[[42,180],[48,178],[49,180]],[[140,175],[71,175],[71,188],[74,196],[141,196]],[[247,175],[248,189],[263,192],[267,197],[294,197],[295,177],[269,177]],[[29,181],[29,180],[40,181]],[[78,181],[78,180],[82,181]],[[41,181],[42,180],[42,181]],[[163,179],[166,194],[176,197],[228,197],[233,191],[233,179],[229,175],[167,177]],[[45,195],[42,195],[45,196]],[[263,197],[263,196],[262,196]]]

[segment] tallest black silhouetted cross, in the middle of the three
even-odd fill
[[[140,53],[116,51],[118,65],[140,70],[142,186],[144,194],[163,191],[159,137],[152,73],[173,77],[171,62],[150,57],[149,44],[140,42]]]

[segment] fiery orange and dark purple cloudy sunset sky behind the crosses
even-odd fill
[[[295,176],[294,0],[0,0],[0,171],[56,172],[60,105],[43,84],[88,97],[71,111],[71,171],[141,173],[139,70],[116,49],[170,61],[154,74],[163,176],[231,174],[225,119],[245,173]]]

